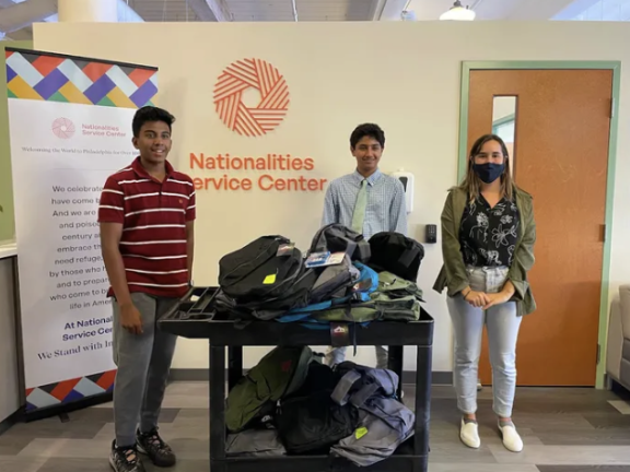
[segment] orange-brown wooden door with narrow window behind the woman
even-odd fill
[[[594,386],[604,252],[611,70],[474,70],[468,150],[516,96],[514,179],[534,197],[538,304],[516,349],[520,386]],[[479,363],[490,385],[486,334]]]

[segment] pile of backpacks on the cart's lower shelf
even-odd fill
[[[229,392],[226,455],[327,455],[332,467],[372,465],[413,435],[398,382],[388,369],[331,368],[308,346],[278,346]]]

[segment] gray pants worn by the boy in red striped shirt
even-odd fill
[[[118,446],[136,444],[138,422],[143,433],[158,427],[177,341],[176,335],[159,330],[158,320],[178,298],[133,293],[131,299],[142,316],[142,334],[131,334],[120,326],[119,307],[113,300],[113,350],[118,367],[114,385],[114,422]]]

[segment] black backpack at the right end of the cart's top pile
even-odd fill
[[[368,266],[376,272],[392,272],[412,282],[418,280],[424,247],[417,240],[395,232],[376,233],[370,238],[370,251]]]

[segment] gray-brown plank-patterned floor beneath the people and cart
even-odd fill
[[[413,398],[405,388],[405,399]],[[482,446],[470,450],[457,436],[453,389],[434,387],[430,472],[630,472],[630,396],[593,389],[517,391],[514,421],[522,453],[506,451],[494,427],[490,389],[479,393]],[[177,452],[173,472],[208,468],[208,386],[168,387],[161,433]],[[0,436],[0,472],[106,472],[113,438],[112,404],[59,417],[16,424]],[[148,470],[152,471],[151,467]]]

